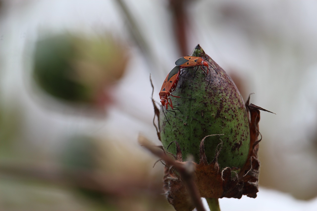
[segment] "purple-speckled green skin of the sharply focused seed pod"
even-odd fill
[[[208,57],[198,45],[192,55],[196,56],[199,53],[203,59],[205,56]],[[231,78],[212,59],[208,57],[206,61],[218,74],[211,67],[211,79],[209,74],[205,77],[200,67],[196,74],[196,67],[183,71],[172,94],[193,99],[171,97],[173,106],[181,111],[180,113],[175,110],[176,115],[182,120],[165,111],[171,123],[169,125],[161,110],[161,140],[165,150],[172,141],[177,141],[182,149],[183,158],[192,154],[195,162],[199,163],[201,140],[207,135],[224,134],[205,139],[207,159],[209,162],[213,160],[217,145],[222,141],[223,148],[218,159],[221,168],[241,168],[248,157],[250,145],[246,108]],[[176,154],[175,144],[171,144],[168,151]]]

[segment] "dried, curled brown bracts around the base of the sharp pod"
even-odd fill
[[[204,151],[204,138],[200,144],[200,162],[193,163],[195,171],[192,177],[200,196],[205,198],[241,198],[242,195],[255,198],[258,192],[258,177],[260,173],[260,162],[258,160],[259,142],[259,121],[260,110],[267,111],[259,106],[249,104],[250,96],[246,102],[246,108],[249,115],[250,129],[250,149],[248,160],[243,168],[236,173],[234,168],[220,169],[217,162],[221,153],[222,143],[218,145],[214,160],[208,164]],[[267,111],[269,112],[269,111]],[[272,113],[272,112],[271,112]],[[182,152],[177,146],[176,162],[187,162],[182,160]],[[164,159],[163,159],[164,160]],[[172,165],[165,166],[164,190],[168,201],[176,210],[192,210],[195,206],[192,203],[190,193],[187,191],[187,185],[184,184],[184,178],[178,173],[177,168]]]

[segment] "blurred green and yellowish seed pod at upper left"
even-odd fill
[[[35,46],[34,79],[56,99],[103,106],[111,101],[104,90],[124,74],[126,52],[124,43],[111,34],[46,36]]]

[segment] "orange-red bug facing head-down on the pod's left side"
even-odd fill
[[[161,91],[159,92],[159,97],[161,99],[162,106],[165,107],[166,110],[168,105],[170,105],[171,108],[174,110],[172,100],[169,97],[170,95],[173,97],[179,98],[178,96],[174,96],[171,94],[177,86],[177,83],[179,80],[179,74],[180,74],[180,67],[175,66],[171,70],[171,72],[166,76],[166,79],[164,80]]]

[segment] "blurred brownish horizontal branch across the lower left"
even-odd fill
[[[102,194],[134,194],[135,189],[149,191],[144,180],[131,179],[127,175],[112,175],[102,171],[88,169],[63,169],[59,166],[21,165],[16,163],[0,164],[0,176],[21,181],[37,181],[57,186],[73,186]],[[153,186],[153,193],[158,192],[161,183]]]

